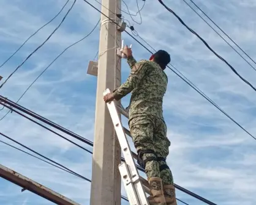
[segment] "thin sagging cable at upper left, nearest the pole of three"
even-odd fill
[[[45,70],[42,71],[42,73],[39,74],[39,76],[37,76],[37,78],[29,85],[28,88],[26,88],[26,90],[23,92],[23,94],[20,96],[20,98],[16,101],[16,103],[18,103],[20,101],[21,98],[23,98],[23,96],[26,94],[26,92],[28,92],[29,88],[32,87],[32,85],[39,79],[40,76],[42,76],[43,73],[45,73],[45,71],[48,70],[48,68],[64,53],[67,51],[67,49],[71,48],[72,46],[75,46],[77,43],[80,43],[81,41],[85,40],[85,38],[89,37],[89,35],[92,34],[92,32],[94,32],[94,30],[96,29],[97,25],[99,24],[100,20],[97,22],[96,26],[93,27],[92,31],[89,32],[88,35],[86,35],[85,37],[81,38],[80,40],[76,41],[75,43],[73,43],[72,45],[68,46],[67,48],[64,49],[64,51],[62,51],[46,68]],[[0,121],[2,119],[4,119],[8,114],[9,114],[10,110],[6,113],[6,115],[4,115]]]

